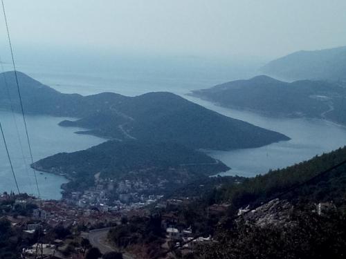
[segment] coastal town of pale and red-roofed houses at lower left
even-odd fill
[[[100,188],[100,186],[98,187]],[[0,196],[0,222],[4,220],[10,222],[11,227],[21,231],[27,239],[36,241],[27,247],[23,247],[22,259],[75,259],[83,258],[78,257],[83,253],[83,248],[75,245],[75,243],[82,242],[80,240],[84,239],[89,240],[89,235],[92,235],[93,231],[103,231],[104,229],[104,238],[107,238],[107,232],[111,227],[126,224],[127,220],[131,218],[151,218],[153,209],[149,209],[147,205],[155,202],[154,211],[157,211],[158,209],[165,209],[167,206],[179,207],[190,202],[188,199],[156,202],[161,197],[154,196],[147,197],[148,200],[144,198],[143,202],[129,202],[126,204],[117,201],[118,205],[108,206],[100,203],[104,202],[104,200],[99,199],[101,193],[102,191],[98,191],[97,188],[83,194],[73,193],[73,195],[76,195],[75,202],[72,199],[59,201],[39,200],[24,194],[3,193]],[[82,202],[84,205],[79,206],[80,200],[88,201]],[[210,211],[211,213],[219,213],[220,208],[221,211],[226,210],[226,207],[214,207],[210,208]],[[179,222],[179,216],[174,213],[160,215],[160,228],[165,233],[166,240],[163,244],[165,249],[168,248],[168,244],[172,246],[172,242],[176,246],[179,246],[181,242],[188,242],[189,244],[181,247],[181,251],[188,253],[194,244],[212,242],[211,236],[195,238],[192,228],[184,227]],[[66,236],[60,234],[64,231],[68,233]],[[39,238],[37,235],[45,236],[45,238]],[[91,243],[91,245],[100,247],[102,251],[104,243],[108,243],[108,241]],[[71,246],[75,247],[72,249]]]

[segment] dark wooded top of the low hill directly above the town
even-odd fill
[[[73,153],[58,153],[33,164],[39,171],[65,173],[69,178],[84,173],[101,178],[122,178],[129,171],[151,167],[188,168],[190,172],[212,175],[229,168],[219,160],[180,144],[109,140]]]

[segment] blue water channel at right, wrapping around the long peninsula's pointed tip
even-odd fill
[[[282,169],[309,160],[315,155],[346,145],[346,127],[322,119],[265,117],[247,111],[223,108],[195,97],[185,97],[228,117],[241,119],[291,138],[286,142],[273,143],[260,148],[208,152],[212,157],[230,166],[231,170],[221,175],[252,177],[267,173],[270,169]]]

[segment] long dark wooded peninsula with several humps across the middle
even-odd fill
[[[63,94],[18,73],[26,113],[78,117],[61,126],[89,128],[87,134],[118,140],[175,142],[190,148],[227,150],[264,146],[289,137],[232,119],[172,93],[125,97],[115,93]],[[20,111],[15,78],[5,73],[15,111]],[[1,80],[1,79],[0,79]],[[0,108],[10,110],[4,82]]]

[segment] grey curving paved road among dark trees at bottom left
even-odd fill
[[[112,251],[117,251],[114,247],[112,247],[107,242],[107,234],[108,234],[109,229],[111,229],[111,228],[94,229],[94,230],[90,231],[88,234],[88,239],[90,241],[90,244],[93,247],[97,247],[98,249],[100,249],[101,253],[109,253]],[[124,259],[134,259],[128,253],[123,253],[122,257]]]

